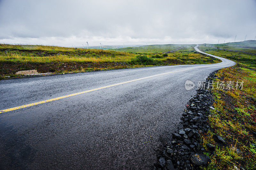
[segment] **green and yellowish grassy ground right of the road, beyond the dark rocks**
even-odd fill
[[[256,138],[252,135],[252,132],[256,132],[256,71],[253,69],[256,67],[256,56],[212,49],[203,45],[199,46],[199,49],[237,62],[236,66],[219,70],[216,73],[219,78],[215,78],[215,82],[244,81],[243,89],[212,89],[215,110],[211,110],[208,118],[211,129],[202,134],[201,138],[204,144],[217,145],[212,140],[212,134],[218,134],[225,139],[226,144],[216,147],[217,157],[211,156],[211,164],[202,168],[234,169],[234,166],[242,165],[245,169],[256,169],[256,147],[252,145],[256,143]],[[236,153],[233,147],[240,149],[243,154]]]

